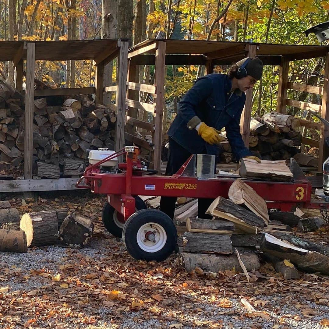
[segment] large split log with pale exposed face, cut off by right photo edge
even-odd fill
[[[279,237],[284,238],[284,240],[280,240]],[[303,245],[304,248],[300,245]],[[275,236],[272,236],[264,233],[261,250],[266,255],[281,260],[289,259],[293,265],[303,271],[329,274],[329,248],[323,248],[316,243],[298,239],[289,234],[275,233]]]

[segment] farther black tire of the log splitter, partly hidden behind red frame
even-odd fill
[[[136,211],[146,209],[144,201],[139,196],[134,196],[134,198]],[[121,214],[119,214],[119,216],[120,215]],[[104,203],[102,209],[102,221],[108,232],[115,237],[122,238],[122,230],[125,225],[123,216],[122,219],[118,218],[118,211],[116,211],[107,201]]]

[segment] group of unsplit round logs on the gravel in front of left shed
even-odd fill
[[[89,246],[93,223],[67,210],[41,211],[21,218],[8,201],[0,201],[0,251],[27,252],[28,247]]]

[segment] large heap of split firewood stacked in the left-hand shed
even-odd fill
[[[59,178],[78,175],[88,149],[114,149],[115,105],[94,104],[88,96],[49,96],[34,101],[33,173]],[[0,83],[0,163],[16,168],[24,159],[24,99]]]

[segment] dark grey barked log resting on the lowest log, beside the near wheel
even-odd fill
[[[184,243],[184,240],[187,242]],[[185,232],[183,251],[204,254],[232,254],[232,243],[229,235]]]

